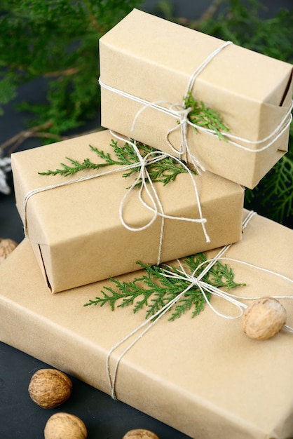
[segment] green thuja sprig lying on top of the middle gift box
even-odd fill
[[[102,159],[101,163],[93,163],[93,161],[90,161],[89,158],[85,158],[82,162],[79,162],[67,157],[69,164],[60,163],[61,168],[57,168],[56,170],[49,169],[46,172],[39,173],[39,175],[63,175],[64,177],[68,177],[86,169],[99,170],[105,166],[128,166],[139,163],[139,158],[137,157],[135,149],[133,149],[133,147],[128,143],[125,143],[123,147],[120,147],[118,146],[117,142],[111,140],[111,147],[113,148],[116,158],[113,158],[109,152],[105,153],[104,151],[101,151],[100,149],[97,149],[91,145],[89,145],[89,147],[97,154],[98,157]],[[142,157],[145,157],[150,152],[156,151],[154,148],[141,143],[137,143],[137,147],[139,148],[139,152]],[[139,166],[135,166],[123,173],[122,176],[130,177],[130,175],[133,173],[137,173],[138,170]],[[178,160],[175,160],[175,158],[172,158],[172,156],[165,156],[155,163],[149,163],[147,165],[147,170],[152,182],[162,182],[164,186],[165,184],[174,181],[178,174],[188,172],[182,163]],[[196,175],[196,171],[191,170],[190,172]],[[142,181],[140,180],[137,182],[136,186],[140,187],[141,184]]]

